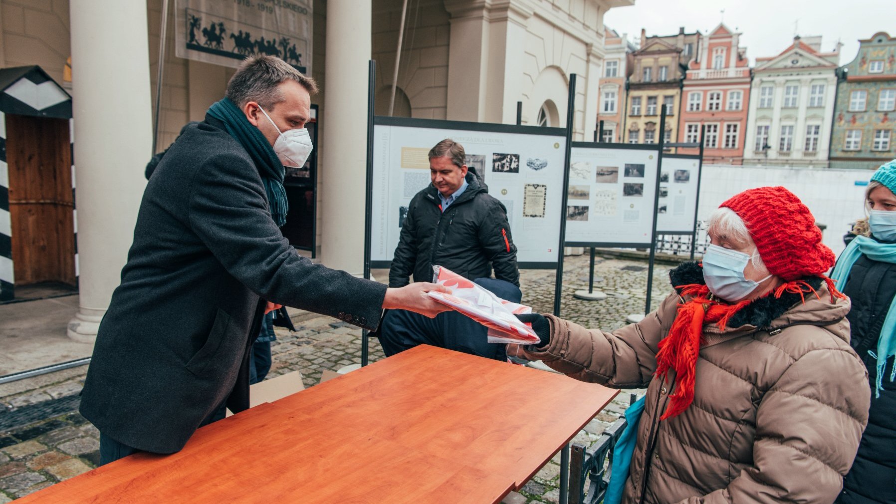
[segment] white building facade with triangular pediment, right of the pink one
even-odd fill
[[[777,56],[757,57],[746,121],[745,164],[826,167],[838,48],[801,39]]]

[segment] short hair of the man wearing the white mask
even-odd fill
[[[248,57],[227,83],[225,96],[240,109],[247,102],[255,101],[263,109],[272,110],[278,103],[286,100],[279,86],[288,80],[301,84],[309,94],[317,92],[317,83],[314,79],[302,74],[279,57]]]

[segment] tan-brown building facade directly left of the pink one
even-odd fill
[[[625,109],[626,143],[659,142],[659,111],[666,109],[666,141],[676,136],[682,83],[687,64],[700,51],[699,31],[647,37],[641,30],[641,48],[633,53],[633,73],[628,78]]]

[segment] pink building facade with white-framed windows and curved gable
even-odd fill
[[[740,33],[719,24],[703,39],[688,65],[678,115],[677,142],[699,142],[705,126],[703,161],[743,164],[751,73]],[[683,154],[697,149],[682,148]]]

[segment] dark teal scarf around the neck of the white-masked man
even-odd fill
[[[283,168],[283,163],[280,162],[271,143],[268,143],[268,139],[264,138],[257,127],[252,126],[252,123],[246,119],[246,114],[227,98],[212,103],[208,114],[222,121],[230,136],[234,137],[246,149],[246,152],[249,152],[258,173],[262,176],[264,191],[268,195],[268,205],[271,208],[271,217],[278,226],[285,224],[286,213],[289,211],[286,189],[283,188],[283,176],[286,175],[286,169]]]

